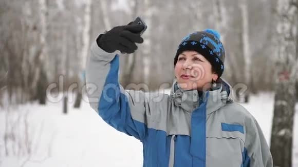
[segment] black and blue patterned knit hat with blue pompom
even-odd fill
[[[185,36],[177,50],[174,58],[174,67],[178,56],[183,51],[192,50],[203,55],[212,65],[218,77],[224,72],[225,49],[220,41],[220,34],[212,29],[197,31]]]

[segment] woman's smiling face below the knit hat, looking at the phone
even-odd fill
[[[175,76],[183,90],[207,90],[218,75],[212,73],[210,62],[196,51],[184,51],[178,56]]]

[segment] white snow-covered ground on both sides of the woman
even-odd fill
[[[255,116],[269,143],[273,94],[252,96],[243,106]],[[68,107],[67,115],[62,113],[62,102],[47,106],[28,103],[11,107],[10,112],[0,111],[0,166],[142,166],[141,142],[109,127],[85,101],[80,109]],[[9,126],[5,126],[6,120]],[[4,136],[5,131],[10,133]],[[297,114],[293,157],[293,166],[298,166]]]

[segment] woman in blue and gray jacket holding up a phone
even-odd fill
[[[254,117],[230,99],[225,49],[214,30],[183,38],[170,95],[124,90],[119,51],[133,53],[140,25],[118,26],[91,46],[86,79],[90,106],[118,131],[143,143],[143,166],[272,166]]]

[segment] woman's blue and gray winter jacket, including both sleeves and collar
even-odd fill
[[[170,95],[124,90],[118,81],[119,54],[92,44],[87,94],[105,122],[143,143],[143,166],[272,166],[258,123],[228,97],[229,88],[199,96],[174,81]]]

